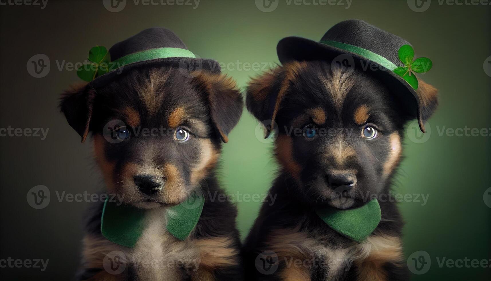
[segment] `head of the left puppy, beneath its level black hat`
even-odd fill
[[[87,110],[73,109],[84,103]],[[222,75],[186,78],[177,69],[153,68],[132,70],[102,89],[69,92],[61,108],[82,140],[92,132],[108,192],[155,208],[179,204],[200,188],[240,118],[242,97]]]

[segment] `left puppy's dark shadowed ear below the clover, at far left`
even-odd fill
[[[86,89],[84,84],[70,88],[61,95],[59,107],[68,124],[82,137],[83,143],[89,132],[95,93],[92,89]]]

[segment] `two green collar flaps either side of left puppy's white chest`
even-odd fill
[[[203,195],[193,192],[188,200],[168,208],[167,231],[181,241],[188,238],[201,217],[204,203]],[[101,218],[102,235],[112,243],[135,247],[145,228],[145,212],[130,205],[118,206],[106,199]]]

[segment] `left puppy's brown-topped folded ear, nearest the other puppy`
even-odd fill
[[[193,82],[210,109],[213,125],[223,142],[228,142],[228,134],[237,125],[242,115],[244,101],[235,81],[225,74],[200,71]]]

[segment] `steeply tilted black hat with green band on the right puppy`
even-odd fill
[[[414,89],[414,85],[411,86],[402,77],[404,75],[394,72],[398,67],[405,66],[398,55],[404,45],[410,46],[408,41],[397,35],[361,20],[347,20],[330,28],[320,42],[296,36],[286,37],[278,42],[276,51],[279,61],[283,64],[290,61],[337,61],[337,56],[347,54],[355,65],[376,65],[377,67],[366,69],[373,70],[375,75],[407,104],[409,114],[416,114],[419,126],[424,132],[420,100],[416,94],[417,84]]]

